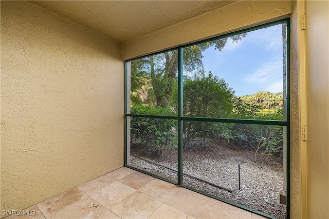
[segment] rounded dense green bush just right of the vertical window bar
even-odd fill
[[[185,78],[183,83],[185,116],[227,117],[232,111],[234,91],[228,87],[224,79],[213,76],[211,72],[194,74]],[[184,146],[194,138],[216,138],[223,135],[226,125],[219,123],[203,123],[189,121],[184,126]]]

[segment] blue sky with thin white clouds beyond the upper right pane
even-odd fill
[[[248,32],[237,43],[228,39],[222,51],[203,52],[205,71],[224,78],[235,95],[282,92],[282,25]]]

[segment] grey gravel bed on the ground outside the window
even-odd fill
[[[196,144],[198,144],[196,142]],[[199,144],[200,145],[200,144]],[[269,215],[285,218],[285,206],[279,202],[279,191],[283,189],[283,168],[256,164],[248,160],[248,153],[234,151],[217,144],[207,143],[204,150],[184,152],[183,172],[218,186],[200,182],[183,175],[183,184],[194,189],[225,198]],[[214,151],[215,150],[215,151]],[[218,151],[220,150],[220,151]],[[203,154],[204,153],[204,154]],[[221,154],[221,155],[215,155]],[[160,157],[138,154],[139,157],[177,170],[177,153],[167,151]],[[222,156],[223,155],[223,156]],[[131,166],[177,182],[177,171],[173,171],[131,155]],[[241,190],[239,190],[238,165],[240,164]]]

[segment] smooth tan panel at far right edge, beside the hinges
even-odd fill
[[[307,217],[329,218],[329,2],[305,10]]]

